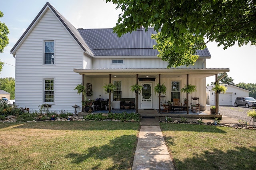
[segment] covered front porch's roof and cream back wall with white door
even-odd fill
[[[82,75],[82,83],[86,86],[87,83],[92,84],[92,96],[86,96],[95,100],[99,98],[109,99],[109,95],[102,88],[105,84],[113,83],[114,81],[122,82],[122,88],[119,91],[121,98],[135,98],[135,92],[132,92],[130,86],[138,83],[140,85],[146,84],[150,89],[147,99],[142,93],[138,93],[138,109],[161,109],[160,98],[153,89],[156,84],[164,84],[167,88],[165,102],[173,102],[174,92],[172,91],[172,82],[179,82],[178,98],[183,102],[184,98],[188,99],[190,106],[193,97],[199,97],[199,103],[206,106],[206,77],[216,76],[218,73],[228,72],[228,68],[172,68],[172,69],[74,69],[74,72]],[[180,89],[185,84],[193,84],[197,87],[197,91],[192,94],[180,92]],[[120,99],[111,94],[110,101],[118,101]],[[184,104],[184,102],[183,102]],[[139,111],[139,110],[138,110]],[[218,113],[216,111],[216,113]],[[189,114],[191,114],[189,112]]]

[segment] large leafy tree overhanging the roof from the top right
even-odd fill
[[[194,62],[196,49],[205,45],[204,38],[216,41],[224,49],[251,43],[256,45],[256,1],[253,0],[106,0],[122,10],[114,32],[121,36],[140,26],[161,32],[156,41],[169,48],[157,48],[170,66]],[[206,42],[206,43],[207,43]],[[168,58],[168,55],[171,55]],[[173,55],[178,55],[173,59]],[[189,57],[193,59],[189,59]]]

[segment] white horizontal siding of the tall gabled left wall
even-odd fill
[[[54,65],[44,65],[44,41],[51,40]],[[16,51],[15,104],[38,110],[44,104],[44,79],[52,78],[54,103],[49,110],[74,112],[72,106],[81,105],[82,95],[74,88],[82,83],[82,76],[73,69],[83,68],[83,56],[81,47],[48,9]]]

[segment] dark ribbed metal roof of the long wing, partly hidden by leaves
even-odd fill
[[[156,56],[158,51],[153,49],[156,41],[151,39],[157,34],[154,28],[144,28],[126,33],[118,37],[113,29],[78,29],[84,41],[92,49],[95,56]],[[197,50],[200,57],[211,57],[207,47]]]

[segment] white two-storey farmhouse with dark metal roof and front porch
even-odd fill
[[[72,106],[81,106],[82,100],[74,90],[77,84],[91,85],[93,94],[86,98],[107,99],[102,86],[112,82],[118,88],[111,99],[120,101],[135,98],[130,86],[138,81],[144,87],[138,108],[157,109],[158,94],[152,90],[157,83],[166,85],[166,101],[183,101],[186,94],[180,90],[188,81],[197,86],[188,103],[199,97],[200,105],[206,106],[206,77],[229,69],[206,68],[211,58],[207,48],[197,51],[200,58],[194,65],[167,69],[168,63],[152,48],[152,33],[153,28],[141,28],[119,38],[112,29],[76,29],[47,2],[11,49],[16,58],[15,103],[30,110],[51,104],[51,111],[73,112]]]

